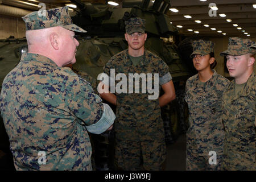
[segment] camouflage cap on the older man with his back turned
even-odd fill
[[[63,27],[71,31],[87,32],[73,24],[71,17],[68,14],[68,6],[57,7],[55,9],[34,11],[22,19],[26,23],[26,30],[39,30],[50,27]]]

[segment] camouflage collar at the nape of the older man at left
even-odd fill
[[[46,56],[39,55],[38,53],[23,53],[20,58],[20,61],[38,61],[38,62],[47,63],[49,65],[58,67],[53,60],[49,59]]]

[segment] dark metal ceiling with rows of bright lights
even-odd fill
[[[93,4],[106,4],[103,0],[81,0],[82,2],[90,2]],[[142,1],[120,1],[123,5],[136,4],[139,5]],[[68,0],[0,0],[1,5],[8,5],[12,7],[19,7],[20,9],[26,9],[35,11],[39,8],[36,6],[31,6],[26,3],[46,3],[47,8],[65,6],[67,3],[71,3]],[[179,34],[183,35],[195,35],[194,31],[199,31],[198,35],[202,36],[240,36],[241,38],[248,38],[243,34],[242,30],[245,30],[250,36],[256,37],[256,9],[253,8],[253,4],[256,4],[256,0],[212,0],[212,1],[200,1],[200,0],[171,0],[171,7],[179,10],[177,13],[172,11],[168,12],[168,15],[172,19],[172,24],[175,26],[181,25],[179,28]],[[210,3],[215,3],[218,7],[216,11],[216,16],[210,16],[209,11],[213,14],[209,7]],[[219,14],[225,14],[226,17],[221,17]],[[190,15],[192,18],[185,18],[184,15]],[[232,22],[227,22],[226,19],[232,19]],[[195,20],[201,20],[201,23],[196,23]],[[204,24],[208,24],[209,27],[205,27]],[[241,30],[234,27],[233,24],[238,24]],[[211,30],[210,28],[216,28],[216,30]],[[193,31],[188,31],[192,29]],[[221,30],[221,33],[217,31]],[[226,33],[226,35],[222,35]],[[250,37],[249,37],[250,38]]]

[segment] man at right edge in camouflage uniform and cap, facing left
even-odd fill
[[[255,164],[255,61],[250,39],[229,38],[226,56],[229,75],[234,80],[223,96],[224,170],[256,170]],[[250,48],[251,47],[251,48]]]

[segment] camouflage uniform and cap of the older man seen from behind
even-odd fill
[[[47,10],[43,17],[31,13],[25,19],[27,30],[41,25],[72,26],[68,7]],[[23,53],[20,63],[5,77],[0,96],[15,168],[91,170],[88,131],[100,134],[115,118],[101,101],[89,82],[70,68],[58,67],[39,54]],[[45,161],[40,152],[45,152]]]

